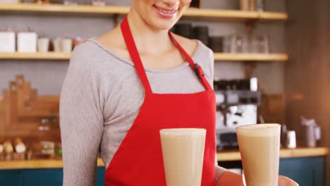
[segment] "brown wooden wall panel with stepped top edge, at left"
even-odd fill
[[[9,83],[0,97],[0,137],[38,142],[60,142],[59,97],[39,96],[23,75]],[[42,120],[49,120],[47,124]],[[40,129],[48,128],[48,130]]]

